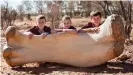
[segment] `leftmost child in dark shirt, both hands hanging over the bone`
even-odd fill
[[[28,30],[29,39],[32,39],[34,35],[41,35],[42,38],[44,38],[46,35],[51,33],[51,28],[45,25],[46,18],[44,15],[38,15],[36,17],[36,24],[36,26],[33,26]]]

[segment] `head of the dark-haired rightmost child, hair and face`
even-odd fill
[[[92,11],[90,13],[90,17],[91,17],[91,22],[94,24],[100,24],[101,22],[101,12],[98,10]]]

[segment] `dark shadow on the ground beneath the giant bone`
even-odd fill
[[[39,67],[16,67],[12,68],[15,71],[31,71],[32,74],[48,74],[53,71],[72,71],[72,72],[86,72],[86,73],[129,73],[133,72],[133,64],[124,63],[124,62],[107,62],[100,66],[79,68],[73,67],[65,64],[58,63],[43,63]]]

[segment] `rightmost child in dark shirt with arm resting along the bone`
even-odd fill
[[[91,22],[88,22],[87,25],[83,26],[78,32],[98,32],[101,22],[101,12],[92,11],[90,13]]]

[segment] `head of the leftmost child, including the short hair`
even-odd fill
[[[37,23],[37,26],[39,27],[44,27],[45,24],[46,24],[46,18],[44,15],[38,15],[36,17],[36,23]]]

